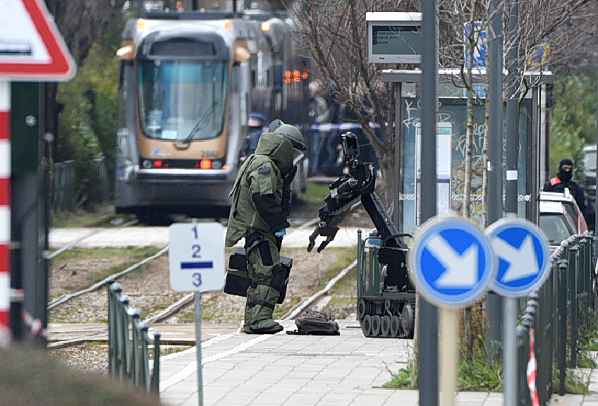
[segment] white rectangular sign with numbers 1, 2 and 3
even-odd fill
[[[219,223],[174,223],[169,227],[170,286],[177,292],[224,288],[224,228]]]

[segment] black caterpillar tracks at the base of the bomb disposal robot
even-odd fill
[[[366,337],[413,338],[415,295],[413,298],[362,296],[357,315]]]

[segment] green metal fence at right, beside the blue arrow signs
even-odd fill
[[[559,395],[565,394],[566,369],[578,367],[580,331],[589,331],[596,319],[593,235],[573,235],[564,240],[551,254],[550,262],[549,278],[542,288],[527,297],[515,331],[519,405],[532,405],[527,385],[530,332],[535,338],[535,387],[539,404],[547,405],[555,389]],[[559,388],[552,387],[555,373]]]

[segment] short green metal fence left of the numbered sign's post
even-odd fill
[[[160,335],[150,333],[150,326],[140,321],[138,311],[130,307],[128,297],[122,295],[120,283],[108,281],[106,285],[109,374],[159,397]]]

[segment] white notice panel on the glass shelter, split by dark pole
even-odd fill
[[[420,123],[415,126],[415,226],[421,223],[421,187],[422,187],[422,127]],[[453,125],[451,123],[437,123],[436,130],[436,212],[448,214],[451,212],[451,173],[453,164]],[[427,160],[425,165],[430,164]]]

